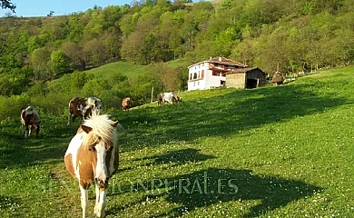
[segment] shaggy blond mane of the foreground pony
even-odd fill
[[[100,137],[106,144],[115,145],[117,134],[113,123],[108,114],[100,115],[93,111],[93,114],[84,121],[85,126],[92,128],[89,137],[86,138],[87,142],[95,141],[97,137]]]

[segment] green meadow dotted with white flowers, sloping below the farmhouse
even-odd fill
[[[121,165],[107,217],[350,217],[354,68],[282,86],[182,93],[181,104],[111,110]],[[39,139],[0,128],[0,217],[79,217],[63,157],[78,126],[42,114]],[[90,193],[90,213],[94,195]]]

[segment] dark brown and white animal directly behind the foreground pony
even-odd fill
[[[74,97],[69,102],[69,117],[67,124],[70,125],[76,117],[81,117],[82,121],[89,117],[93,110],[96,110],[98,113],[101,113],[102,110],[102,102],[100,99],[96,97]]]

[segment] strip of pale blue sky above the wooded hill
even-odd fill
[[[94,5],[130,5],[133,0],[11,0],[16,5],[16,16],[46,16],[51,11],[53,15],[70,15],[74,12],[85,12]],[[195,0],[193,2],[198,2]],[[0,9],[0,17],[10,10]]]

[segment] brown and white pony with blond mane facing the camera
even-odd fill
[[[80,184],[83,217],[88,209],[88,188],[93,183],[96,191],[93,212],[104,217],[108,180],[118,169],[117,125],[118,121],[111,121],[108,115],[93,112],[78,128],[64,156],[67,171]]]

